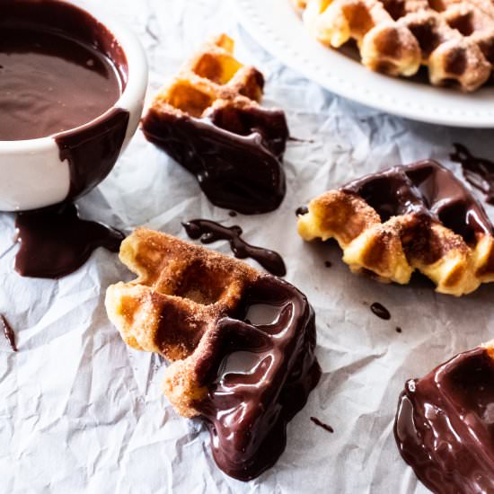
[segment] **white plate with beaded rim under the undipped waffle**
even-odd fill
[[[376,74],[313,40],[289,0],[234,0],[239,19],[272,55],[333,93],[401,117],[494,128],[494,88],[463,94]]]

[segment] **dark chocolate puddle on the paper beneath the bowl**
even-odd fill
[[[80,268],[98,247],[119,251],[124,234],[79,217],[66,203],[19,213],[15,220],[21,243],[15,270],[22,276],[60,278]]]

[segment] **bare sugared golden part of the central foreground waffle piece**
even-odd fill
[[[198,415],[193,402],[207,390],[198,386],[191,369],[202,356],[201,346],[208,344],[203,336],[220,317],[234,313],[245,288],[260,272],[144,228],[128,236],[119,257],[138,278],[108,288],[110,321],[130,347],[171,361],[186,359],[166,369],[163,392],[184,417]]]

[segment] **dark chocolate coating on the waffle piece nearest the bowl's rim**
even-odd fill
[[[197,119],[151,109],[142,128],[149,141],[196,175],[218,207],[267,213],[285,197],[280,162],[288,128],[281,110],[222,108]]]

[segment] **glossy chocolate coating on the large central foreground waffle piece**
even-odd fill
[[[269,317],[251,323],[251,311]],[[218,466],[249,481],[277,462],[287,422],[304,407],[321,377],[314,356],[314,313],[295,287],[269,275],[243,297],[236,317],[216,323],[198,362],[199,385],[209,393],[198,410],[207,420]]]

